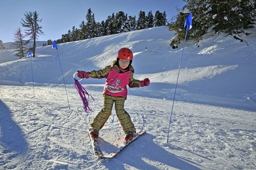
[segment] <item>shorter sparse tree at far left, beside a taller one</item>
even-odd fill
[[[15,51],[17,52],[15,53],[15,56],[17,56],[19,59],[25,57],[24,50],[26,49],[25,45],[28,44],[28,41],[25,41],[24,38],[25,35],[23,35],[20,31],[20,28],[18,28],[16,33],[14,34],[14,45]]]

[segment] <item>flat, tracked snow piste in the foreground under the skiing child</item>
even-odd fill
[[[136,128],[147,132],[115,158],[98,160],[86,129],[101,109],[102,92],[90,90],[97,100],[90,103],[93,111],[81,116],[72,85],[70,109],[62,85],[35,86],[35,98],[31,86],[0,88],[0,167],[6,169],[256,168],[255,112],[176,102],[166,143],[171,102],[130,95],[125,109]],[[113,111],[100,131],[102,150],[113,152],[123,135]]]

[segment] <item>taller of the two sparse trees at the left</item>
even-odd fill
[[[36,40],[38,39],[38,34],[44,34],[42,32],[42,27],[39,26],[39,22],[42,21],[42,19],[39,19],[38,13],[36,11],[34,12],[26,12],[25,14],[25,20],[22,18],[22,27],[27,28],[25,30],[26,36],[29,37],[29,41],[33,41],[33,57],[35,57],[35,47],[36,47]]]

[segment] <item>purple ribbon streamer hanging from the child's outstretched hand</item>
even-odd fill
[[[84,110],[84,112],[88,113],[89,111],[92,111],[92,109],[89,107],[89,102],[90,102],[89,99],[90,99],[91,95],[86,91],[86,89],[83,88],[83,86],[78,82],[78,80],[76,80],[75,78],[74,78],[74,80],[75,80],[76,89],[82,99],[83,110]],[[86,95],[88,95],[88,100],[86,98]],[[94,102],[94,99],[92,96],[91,96],[91,98],[93,100],[92,102]]]

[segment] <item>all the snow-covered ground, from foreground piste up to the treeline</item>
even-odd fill
[[[0,167],[37,169],[252,169],[256,119],[256,30],[242,37],[205,35],[185,44],[170,139],[166,143],[182,49],[169,44],[167,27],[57,44],[70,100],[52,46],[31,59],[0,51]],[[181,42],[181,45],[183,42]],[[94,158],[86,129],[102,107],[104,80],[81,81],[96,99],[82,116],[76,70],[109,65],[121,47],[134,53],[135,78],[148,87],[129,89],[125,110],[146,134],[111,160]],[[116,115],[100,131],[104,152],[123,137]],[[9,128],[12,127],[12,128]]]

